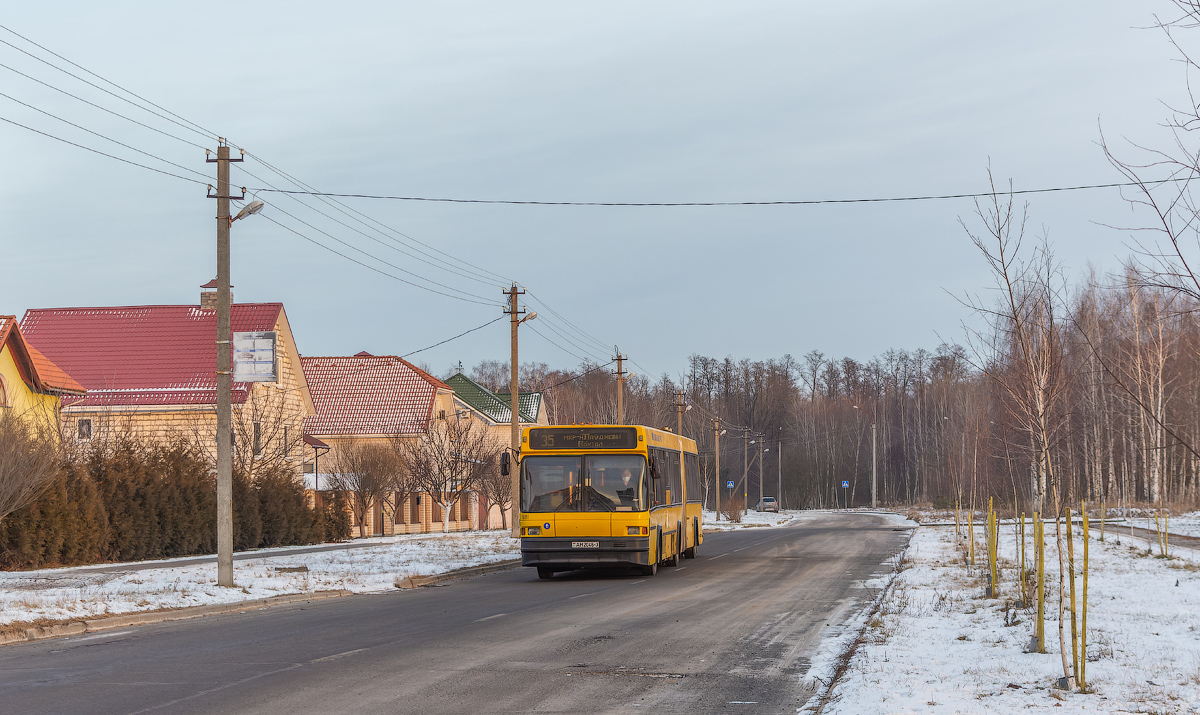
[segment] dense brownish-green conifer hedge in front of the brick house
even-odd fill
[[[234,474],[234,548],[344,540],[344,499],[308,509],[294,475]],[[162,559],[216,551],[216,480],[186,443],[121,443],[65,465],[35,503],[0,521],[0,567]]]

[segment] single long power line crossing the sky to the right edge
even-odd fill
[[[1160,179],[1158,181],[1120,181],[1114,184],[1085,184],[1079,186],[1054,186],[1048,188],[1021,188],[1013,191],[986,191],[979,193],[944,193],[902,197],[870,197],[850,199],[791,199],[772,202],[546,202],[546,200],[515,200],[515,199],[461,199],[444,197],[414,197],[414,196],[385,196],[371,193],[317,193],[317,192],[290,192],[308,193],[312,196],[326,196],[352,199],[383,199],[392,202],[433,202],[446,204],[504,204],[518,206],[815,206],[820,204],[880,204],[889,202],[937,202],[947,199],[980,199],[998,196],[1020,196],[1028,193],[1051,193],[1061,191],[1087,191],[1092,188],[1120,188],[1126,186],[1144,186],[1169,184],[1172,181],[1188,181],[1189,178]],[[271,191],[271,190],[256,190]],[[276,190],[277,191],[277,190]]]

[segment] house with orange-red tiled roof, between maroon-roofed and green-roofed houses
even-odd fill
[[[301,365],[316,405],[316,413],[305,419],[305,434],[330,447],[320,458],[322,471],[314,471],[312,462],[305,464],[312,488],[330,488],[341,455],[354,446],[419,439],[434,420],[454,415],[450,386],[395,355],[305,356]],[[427,495],[414,495],[402,504],[374,501],[359,505],[366,513],[365,535],[442,530],[442,509]],[[456,504],[449,528],[461,530],[482,523],[479,507],[476,498]]]

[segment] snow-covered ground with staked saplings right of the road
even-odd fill
[[[1174,523],[1174,522],[1172,522]],[[1174,530],[1174,529],[1172,529]],[[1025,653],[1036,612],[1014,609],[1016,536],[1001,531],[1000,597],[985,597],[983,530],[979,567],[968,569],[954,527],[920,527],[905,566],[865,624],[859,645],[824,713],[1200,713],[1200,563],[1146,555],[1128,534],[1090,542],[1087,695],[1052,689],[1062,675],[1057,590],[1046,594],[1046,654]],[[1115,537],[1120,537],[1120,542]],[[1054,524],[1046,524],[1046,581],[1057,582]],[[1027,546],[1032,558],[1032,539]],[[1082,567],[1076,533],[1076,570]],[[871,584],[868,584],[871,585]],[[1082,579],[1076,576],[1076,595]],[[869,618],[869,623],[868,623]],[[1068,614],[1069,618],[1069,614]],[[1068,627],[1068,649],[1070,648]],[[845,633],[822,653],[844,653]],[[817,659],[815,659],[816,661]],[[1061,708],[1061,709],[1060,709]]]

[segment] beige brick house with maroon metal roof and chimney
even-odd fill
[[[194,441],[216,458],[217,322],[211,301],[40,308],[25,313],[25,340],[86,389],[62,401],[67,434],[80,441]],[[234,332],[276,331],[277,383],[234,383],[234,465],[253,475],[299,467],[304,420],[314,413],[282,304],[235,304]]]

